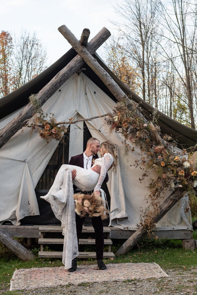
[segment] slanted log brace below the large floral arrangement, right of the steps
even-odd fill
[[[184,196],[185,192],[183,190],[176,190],[165,201],[159,206],[158,213],[153,214],[151,223],[156,224],[176,203]],[[122,246],[116,251],[115,255],[121,255],[129,252],[137,242],[146,233],[146,229],[140,226],[129,239],[122,244]]]

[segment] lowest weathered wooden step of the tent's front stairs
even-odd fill
[[[38,257],[46,258],[62,258],[63,252],[53,252],[53,251],[39,251]],[[104,252],[103,258],[114,258],[115,255],[113,252]],[[79,252],[77,258],[96,258],[96,252]]]

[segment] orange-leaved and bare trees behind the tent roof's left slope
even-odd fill
[[[47,53],[36,33],[26,31],[12,40],[9,32],[0,34],[0,97],[19,88],[46,66]]]

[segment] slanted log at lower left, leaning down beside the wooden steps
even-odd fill
[[[0,228],[0,241],[23,261],[29,261],[35,258],[29,250],[17,242],[17,240],[11,237],[2,228]]]

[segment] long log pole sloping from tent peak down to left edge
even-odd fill
[[[111,33],[105,27],[87,44],[89,54],[93,54],[109,37]],[[78,41],[79,43],[79,41]],[[81,46],[81,45],[80,45]],[[85,48],[85,47],[83,47]],[[80,55],[75,56],[68,65],[51,79],[37,94],[36,98],[41,106],[49,99],[55,91],[67,81],[84,64]],[[34,108],[29,102],[4,128],[0,130],[0,148],[32,117]]]

